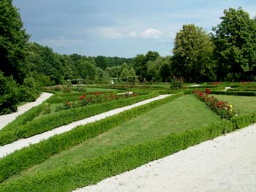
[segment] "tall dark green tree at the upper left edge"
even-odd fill
[[[0,1],[0,70],[20,84],[26,76],[26,43],[29,35],[23,28],[18,10],[11,0]]]

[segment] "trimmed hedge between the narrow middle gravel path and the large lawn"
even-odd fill
[[[127,120],[135,118],[136,116],[159,107],[162,104],[173,101],[182,95],[183,93],[178,93],[176,95],[168,96],[165,99],[152,101],[151,103],[135,107],[132,110],[121,112],[118,115],[114,115],[94,123],[89,123],[85,126],[78,126],[64,134],[50,137],[50,139],[25,147],[15,153],[5,156],[4,158],[0,158],[0,182],[35,164],[42,163],[51,155],[60,153],[63,150],[67,150],[70,147],[78,145],[86,139],[96,137],[110,128],[121,125],[121,123],[124,123]]]

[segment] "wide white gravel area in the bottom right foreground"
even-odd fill
[[[255,192],[256,124],[75,192]]]

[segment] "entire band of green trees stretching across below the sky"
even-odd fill
[[[176,34],[172,55],[156,51],[134,58],[61,55],[29,42],[18,9],[0,1],[0,115],[10,104],[32,101],[42,86],[83,78],[86,83],[256,81],[256,20],[225,9],[211,33],[194,24]],[[14,108],[9,108],[15,111]]]

